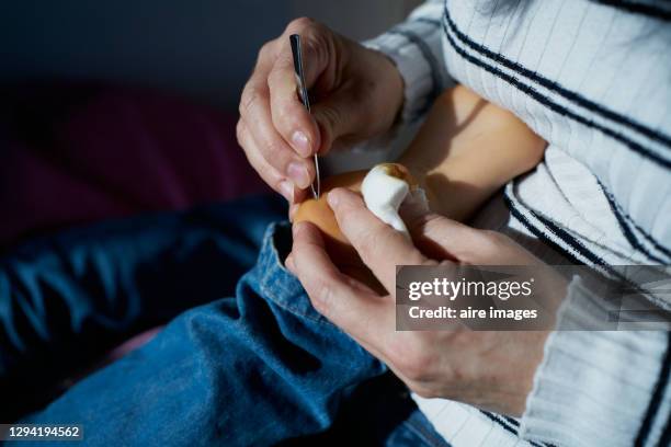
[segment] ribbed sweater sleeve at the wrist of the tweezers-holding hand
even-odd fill
[[[403,123],[420,117],[448,84],[441,44],[443,1],[431,0],[417,8],[402,23],[364,42],[386,54],[405,82]]]

